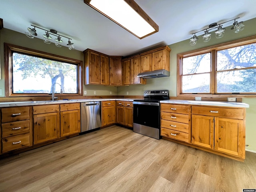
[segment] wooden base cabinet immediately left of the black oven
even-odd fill
[[[116,123],[133,127],[133,103],[116,101]]]

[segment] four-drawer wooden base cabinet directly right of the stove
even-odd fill
[[[161,136],[191,142],[191,107],[161,104]]]

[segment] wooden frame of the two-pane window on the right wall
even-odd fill
[[[217,51],[233,48],[237,46],[243,46],[247,44],[256,43],[256,35],[249,36],[246,38],[241,38],[238,40],[233,40],[230,42],[225,42],[222,44],[217,44],[214,46],[209,46],[205,48],[200,48],[184,53],[177,54],[177,96],[202,96],[202,97],[223,97],[223,96],[237,96],[237,97],[256,97],[255,93],[242,93],[242,94],[232,94],[232,93],[216,93],[217,90]],[[211,72],[210,72],[210,93],[182,93],[182,58],[195,56],[199,54],[211,53]]]

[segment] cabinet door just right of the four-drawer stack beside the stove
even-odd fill
[[[192,144],[214,148],[214,117],[192,115]]]

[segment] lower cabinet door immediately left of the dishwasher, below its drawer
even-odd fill
[[[60,112],[60,136],[81,132],[80,110]]]

